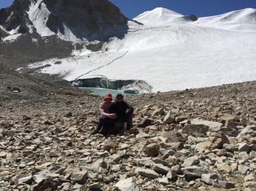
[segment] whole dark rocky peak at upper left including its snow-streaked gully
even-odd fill
[[[0,10],[0,25],[6,31],[35,28],[41,36],[56,34],[67,41],[104,40],[114,35],[114,27],[127,32],[127,21],[108,0],[15,0]]]

